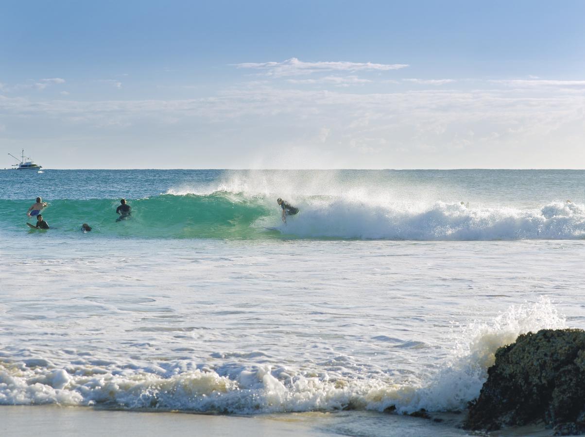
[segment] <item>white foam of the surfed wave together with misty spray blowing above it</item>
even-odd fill
[[[306,172],[305,172],[306,173]],[[339,172],[282,174],[276,171],[227,173],[207,186],[183,186],[168,194],[202,196],[223,193],[234,203],[253,202],[273,211],[257,225],[277,227],[300,238],[363,240],[549,240],[585,237],[583,204],[555,201],[526,207],[520,201],[504,205],[449,202],[445,187],[379,185],[375,175],[343,179]],[[459,190],[459,195],[461,195]],[[280,223],[276,198],[297,206],[300,214]],[[438,200],[443,199],[443,200]],[[465,200],[465,201],[463,201]]]

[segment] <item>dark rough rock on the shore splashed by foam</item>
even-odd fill
[[[541,330],[498,349],[467,429],[545,422],[556,435],[585,432],[585,331]]]

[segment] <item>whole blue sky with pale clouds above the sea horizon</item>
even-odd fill
[[[585,1],[2,2],[0,168],[585,168]]]

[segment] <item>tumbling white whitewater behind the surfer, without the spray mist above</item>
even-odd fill
[[[303,238],[423,241],[585,237],[585,210],[574,203],[514,209],[444,202],[426,206],[321,199],[308,200],[298,207],[298,216],[278,226],[281,233]]]

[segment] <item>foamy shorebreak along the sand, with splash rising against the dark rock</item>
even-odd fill
[[[479,395],[498,347],[528,331],[565,327],[565,318],[547,299],[512,306],[489,323],[462,330],[450,360],[421,384],[394,383],[379,374],[350,378],[333,376],[325,369],[270,366],[261,364],[262,352],[226,357],[225,365],[211,367],[190,361],[139,366],[94,356],[55,365],[37,356],[3,359],[0,351],[0,405],[102,405],[236,414],[391,407],[398,412],[461,411]],[[239,365],[234,362],[238,358],[256,358],[258,364]]]

